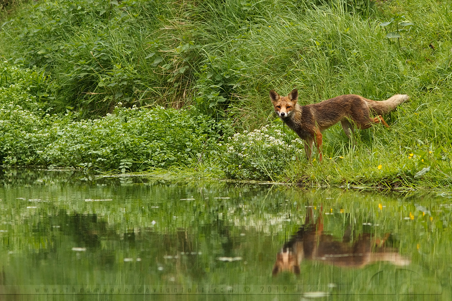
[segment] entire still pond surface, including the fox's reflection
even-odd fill
[[[452,299],[450,195],[68,171],[0,181],[0,298]]]

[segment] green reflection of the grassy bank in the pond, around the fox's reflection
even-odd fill
[[[426,289],[433,290],[437,278],[444,282],[449,275],[450,268],[444,263],[449,260],[452,241],[447,231],[450,207],[440,203],[450,201],[441,197],[58,174],[60,178],[46,172],[26,173],[23,179],[10,176],[10,180],[16,179],[16,188],[0,189],[3,221],[8,225],[4,228],[8,232],[2,232],[4,248],[0,252],[11,258],[4,267],[15,283],[227,283],[264,285],[266,289],[286,285],[297,293],[387,293],[399,287],[400,292],[414,289],[419,293],[422,286],[412,283],[425,282]],[[43,185],[42,179],[53,184]],[[28,201],[38,199],[48,202]],[[37,208],[27,210],[30,203]],[[399,267],[387,263],[357,270],[303,262],[299,277],[283,274],[273,278],[276,253],[304,223],[307,204],[314,206],[314,216],[323,207],[328,213],[324,230],[337,239],[342,239],[348,224],[357,234],[392,233],[388,246],[409,257],[412,264],[406,269],[414,266],[420,276],[400,272],[395,286],[391,273]],[[74,247],[86,251],[76,254],[71,251]],[[14,253],[8,255],[9,251]],[[242,260],[223,262],[217,259],[220,257]],[[72,268],[65,268],[65,263]],[[29,273],[35,264],[39,268]],[[384,273],[378,274],[381,270]],[[335,286],[328,286],[331,283]],[[358,299],[350,298],[355,297]],[[273,299],[274,295],[264,298]]]

